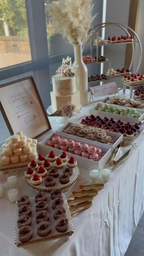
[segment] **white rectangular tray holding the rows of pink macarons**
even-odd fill
[[[65,139],[75,139],[75,141],[77,142],[80,142],[81,144],[84,144],[86,143],[85,140],[83,139],[79,139],[79,137],[74,137],[73,138],[71,136],[68,136],[66,135],[65,133],[53,133],[53,134],[50,134],[48,136],[45,137],[45,139],[41,140],[40,142],[38,142],[38,150],[41,154],[43,155],[48,155],[48,153],[51,151],[51,150],[54,150],[54,152],[56,153],[56,155],[60,155],[60,153],[62,153],[62,150],[59,150],[57,148],[53,148],[53,147],[49,147],[46,145],[46,142],[51,139],[52,136],[60,136],[60,137],[65,137]],[[104,152],[104,156],[98,161],[93,161],[91,159],[87,159],[87,158],[83,158],[82,156],[77,156],[77,155],[74,155],[72,153],[69,153],[67,152],[67,155],[68,155],[68,158],[70,158],[70,156],[74,156],[74,158],[77,160],[77,166],[79,167],[83,167],[85,169],[89,169],[90,166],[98,166],[99,168],[103,168],[104,164],[107,163],[107,160],[110,158],[110,155],[112,153],[112,150],[108,147],[105,146],[105,144],[97,144],[96,142],[93,142],[93,141],[88,141],[87,140],[87,144],[88,145],[92,145],[92,146],[97,146],[99,148],[101,148],[101,150]]]

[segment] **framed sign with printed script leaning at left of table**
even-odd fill
[[[0,109],[11,135],[23,131],[27,137],[37,138],[51,130],[32,76],[2,84]]]

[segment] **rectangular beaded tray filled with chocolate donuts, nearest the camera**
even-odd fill
[[[20,201],[20,199],[18,200]],[[35,203],[36,199],[38,202]],[[73,222],[68,203],[60,189],[54,189],[48,195],[40,192],[35,197],[30,197],[29,200],[31,216],[30,214],[20,215],[20,208],[24,206],[16,205],[15,244],[17,246],[73,234]]]

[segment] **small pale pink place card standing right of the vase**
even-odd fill
[[[94,97],[98,97],[118,92],[118,86],[115,82],[109,82],[108,84],[102,84],[101,86],[90,87],[90,90]]]

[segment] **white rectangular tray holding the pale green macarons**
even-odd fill
[[[95,109],[90,109],[89,114],[93,114],[93,115],[99,115],[100,117],[108,117],[108,118],[113,118],[114,120],[118,120],[120,119],[123,122],[129,122],[131,124],[134,123],[140,123],[143,118],[144,118],[144,111],[143,109],[135,109],[137,112],[139,112],[140,114],[142,114],[139,118],[135,118],[135,117],[128,117],[126,115],[118,115],[118,114],[113,114],[110,112],[104,112],[104,111],[99,111],[98,109],[101,108],[103,106],[103,102],[99,102],[96,104]],[[108,103],[107,103],[108,104]],[[115,104],[110,104],[112,106],[115,106]],[[119,105],[117,105],[119,106]],[[120,106],[120,108],[127,108],[126,106]]]

